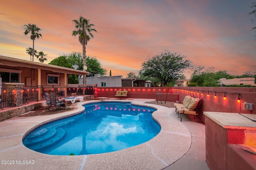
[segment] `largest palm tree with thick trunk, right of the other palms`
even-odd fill
[[[94,35],[92,35],[92,31],[96,31],[96,29],[92,28],[94,27],[94,24],[90,23],[89,20],[87,20],[86,18],[80,16],[78,20],[72,20],[72,22],[75,25],[75,30],[72,33],[72,36],[76,36],[78,35],[78,40],[79,42],[82,44],[83,46],[83,70],[86,71],[86,45],[87,42],[90,41],[91,38],[94,37]],[[84,76],[84,83],[85,83],[85,76]]]

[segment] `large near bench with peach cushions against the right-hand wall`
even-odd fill
[[[184,115],[193,115],[196,119],[196,109],[199,105],[199,102],[201,101],[201,98],[196,98],[192,96],[185,96],[182,104],[175,103],[175,111],[178,113],[178,116],[180,116],[180,121],[182,121],[182,117]],[[182,115],[183,114],[183,115]]]

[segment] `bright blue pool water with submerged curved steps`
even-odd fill
[[[82,155],[113,152],[149,141],[160,132],[151,107],[123,102],[84,105],[78,115],[43,125],[23,144],[45,154]]]

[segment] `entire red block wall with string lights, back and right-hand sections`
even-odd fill
[[[97,87],[97,97],[114,98],[117,90],[127,90],[127,98],[147,98],[180,103],[185,96],[198,96],[198,118],[205,122],[204,111],[256,114],[256,88],[246,87]],[[167,98],[166,94],[168,92]],[[157,93],[157,95],[156,95]],[[209,95],[208,95],[209,94]],[[216,94],[216,98],[214,97]],[[224,99],[226,96],[226,99]],[[238,98],[240,102],[238,103]],[[252,110],[242,109],[244,102],[251,103]]]

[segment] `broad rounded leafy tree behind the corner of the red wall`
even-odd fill
[[[192,68],[192,61],[180,53],[170,53],[165,51],[161,55],[156,55],[142,63],[140,74],[154,77],[164,85],[178,80],[185,69]]]

